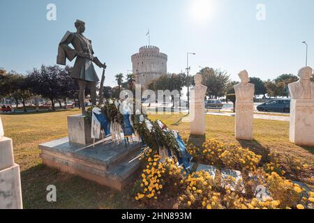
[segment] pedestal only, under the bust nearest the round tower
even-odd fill
[[[205,109],[203,103],[191,103],[190,106],[190,134],[204,135],[205,128]]]

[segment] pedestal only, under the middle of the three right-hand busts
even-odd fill
[[[236,139],[253,140],[253,101],[236,102],[235,137]]]

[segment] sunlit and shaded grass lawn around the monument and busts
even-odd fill
[[[38,144],[67,135],[66,117],[79,114],[79,109],[59,112],[1,115],[6,137],[13,139],[15,162],[20,164],[24,208],[140,208],[134,200],[133,185],[123,192],[98,185],[89,180],[63,174],[45,167],[39,158]],[[201,144],[204,137],[189,136],[189,123],[183,123],[185,114],[151,115],[151,119],[164,121],[169,128],[179,130],[195,144]],[[314,148],[302,148],[289,142],[289,123],[281,121],[254,121],[254,141],[234,139],[234,117],[207,116],[206,138],[216,138],[250,148],[266,159],[269,151],[281,155],[299,157],[307,164],[314,163]],[[312,188],[313,173],[304,178]],[[57,202],[46,201],[47,185],[57,186]]]

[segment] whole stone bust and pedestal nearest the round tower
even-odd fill
[[[205,134],[205,95],[207,86],[202,85],[202,75],[194,76],[195,86],[190,89],[190,134]]]

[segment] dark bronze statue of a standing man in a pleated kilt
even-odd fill
[[[80,105],[82,114],[85,114],[84,94],[87,85],[91,90],[91,103],[96,105],[96,84],[99,82],[99,79],[92,62],[104,69],[106,65],[105,63],[101,63],[96,56],[93,56],[94,51],[91,47],[91,40],[83,36],[85,23],[76,20],[75,28],[77,29],[75,33],[67,31],[59,43],[57,64],[66,65],[66,59],[73,61],[76,57],[71,77],[77,79],[80,86]],[[72,44],[74,49],[69,44]]]

